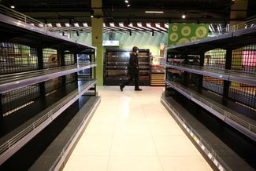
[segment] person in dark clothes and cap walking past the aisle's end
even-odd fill
[[[130,59],[128,64],[128,75],[130,78],[121,84],[120,89],[123,91],[124,86],[128,85],[128,83],[134,80],[135,83],[135,91],[142,91],[139,89],[139,60],[138,60],[139,48],[134,46],[132,48],[132,53],[130,53]]]

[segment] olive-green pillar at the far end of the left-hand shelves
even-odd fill
[[[97,85],[103,85],[103,17],[102,0],[91,0],[94,17],[91,19],[91,44],[97,47]]]

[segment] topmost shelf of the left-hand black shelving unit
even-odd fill
[[[0,13],[0,42],[15,42],[31,47],[51,47],[81,52],[85,49],[95,50],[92,45],[81,44],[76,40],[46,31],[43,28],[26,24]]]

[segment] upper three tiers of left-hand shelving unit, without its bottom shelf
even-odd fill
[[[28,120],[25,122],[15,122],[14,129],[2,134],[0,165],[54,122],[54,118],[80,96],[97,96],[95,46],[56,35],[45,27],[35,27],[39,21],[13,10],[6,14],[9,15],[0,13],[1,119],[10,121],[13,118],[14,121],[23,117],[22,110],[32,107],[37,101],[41,103],[40,100],[44,103],[49,99],[54,103],[47,104],[44,109],[41,107],[43,110],[38,114],[26,116]],[[69,88],[71,84],[72,89]],[[61,95],[60,89],[69,89],[69,93]],[[55,92],[60,93],[58,97],[47,98]]]

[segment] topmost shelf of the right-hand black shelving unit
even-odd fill
[[[167,51],[175,50],[177,52],[200,53],[211,49],[237,49],[245,45],[256,44],[256,27],[247,27],[246,29],[225,33],[211,38],[203,38],[195,42],[176,45],[167,48]]]

